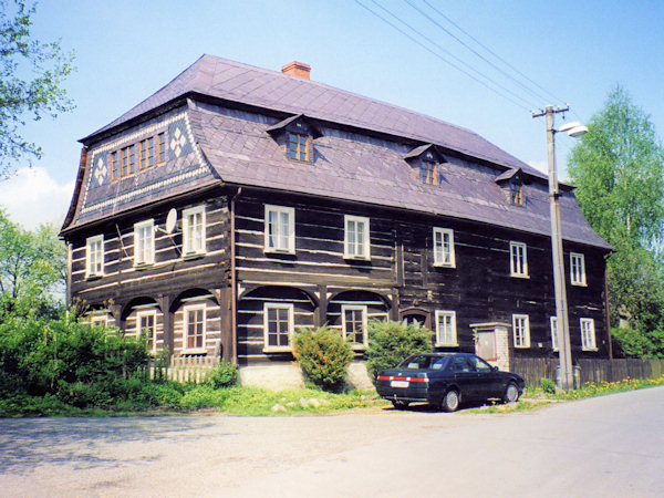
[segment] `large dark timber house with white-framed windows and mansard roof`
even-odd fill
[[[204,55],[81,139],[70,302],[179,365],[290,364],[325,323],[361,359],[386,318],[501,369],[557,357],[547,176],[309,75]],[[572,357],[606,357],[611,248],[560,201]]]

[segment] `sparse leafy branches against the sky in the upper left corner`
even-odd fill
[[[63,53],[60,42],[31,38],[34,12],[35,6],[24,0],[0,2],[0,180],[21,157],[42,154],[21,136],[29,115],[39,121],[73,108],[61,85],[73,70],[74,55]]]

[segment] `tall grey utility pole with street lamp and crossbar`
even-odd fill
[[[568,132],[569,136],[579,137],[588,132],[580,123],[568,123],[556,129],[553,127],[553,115],[569,111],[564,108],[553,110],[548,105],[543,112],[533,113],[532,117],[547,117],[547,148],[549,157],[549,205],[551,212],[551,252],[553,255],[553,289],[556,292],[556,329],[558,332],[558,356],[560,360],[560,387],[569,391],[574,386],[572,376],[572,355],[570,349],[570,324],[568,315],[567,289],[564,282],[564,260],[562,252],[562,235],[560,225],[560,190],[558,176],[556,174],[556,133]]]

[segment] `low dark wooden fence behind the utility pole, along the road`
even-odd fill
[[[513,359],[511,371],[521,374],[528,385],[539,385],[542,377],[557,380],[558,359]],[[656,378],[664,374],[664,360],[578,360],[575,381],[616,382],[624,378]]]

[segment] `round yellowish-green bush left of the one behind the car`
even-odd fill
[[[346,370],[353,360],[353,349],[339,331],[321,326],[298,331],[293,355],[313,384],[324,391],[339,392],[343,388]]]

